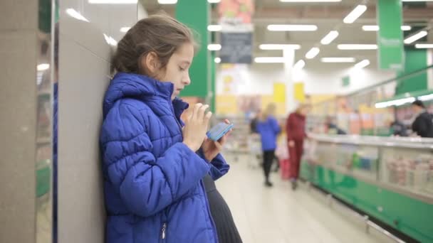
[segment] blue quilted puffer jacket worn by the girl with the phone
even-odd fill
[[[104,100],[100,135],[109,243],[218,242],[202,178],[229,166],[182,143],[187,108],[173,85],[118,73]]]

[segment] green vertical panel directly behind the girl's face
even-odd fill
[[[198,53],[194,57],[189,75],[191,85],[182,91],[183,97],[205,98],[210,90],[210,54],[207,50],[209,43],[209,3],[207,1],[179,0],[176,6],[176,18],[192,28],[197,33],[197,41],[200,44]]]

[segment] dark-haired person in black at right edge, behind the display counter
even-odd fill
[[[423,138],[433,138],[433,114],[427,112],[421,100],[412,103],[412,111],[416,117],[412,123],[412,131]]]

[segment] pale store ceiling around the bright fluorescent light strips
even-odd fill
[[[164,10],[174,15],[174,5],[160,5],[157,0],[140,0],[149,13]],[[202,0],[204,1],[204,0]],[[345,24],[343,18],[360,3],[365,3],[367,11],[358,18],[355,23]],[[312,60],[306,60],[307,68],[348,68],[353,63],[320,63],[323,57],[353,57],[356,60],[369,59],[370,67],[375,67],[376,50],[338,50],[337,44],[375,44],[377,33],[374,31],[362,31],[362,25],[376,24],[376,1],[343,0],[339,3],[282,3],[278,0],[256,0],[256,12],[254,14],[254,56],[281,56],[281,50],[259,50],[259,45],[264,43],[293,43],[301,45],[296,51],[296,60],[305,59],[306,52],[314,47],[320,48],[320,53]],[[411,26],[418,23],[430,23],[433,20],[433,4],[427,4],[422,8],[405,6],[403,21]],[[216,9],[212,11],[212,23],[217,23]],[[312,32],[274,32],[268,31],[269,24],[298,23],[315,24],[317,31]],[[320,45],[320,40],[329,31],[337,30],[340,34],[330,45]],[[433,42],[433,30],[427,37]],[[216,33],[215,43],[219,43],[219,35]]]

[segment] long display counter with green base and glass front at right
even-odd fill
[[[301,177],[420,242],[433,242],[433,139],[318,135]]]

